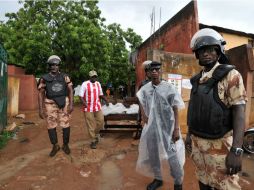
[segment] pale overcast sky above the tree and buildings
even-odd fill
[[[18,0],[0,0],[0,20],[7,12],[17,12]],[[152,10],[155,30],[162,26],[190,0],[101,0],[98,4],[106,23],[133,28],[143,40],[151,34]],[[199,22],[254,34],[253,0],[198,0]],[[161,11],[160,11],[161,10]],[[160,16],[161,12],[161,16]]]

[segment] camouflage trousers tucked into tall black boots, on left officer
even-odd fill
[[[54,129],[58,125],[62,128],[70,127],[70,114],[68,114],[69,102],[66,101],[65,107],[60,109],[56,103],[45,102],[46,122],[48,129]]]

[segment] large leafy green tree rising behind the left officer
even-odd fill
[[[76,84],[88,79],[95,69],[101,82],[118,84],[128,80],[128,50],[141,42],[132,29],[119,24],[106,26],[98,1],[21,1],[17,13],[7,14],[0,23],[0,40],[8,52],[9,63],[24,66],[26,72],[40,76],[47,69],[47,58],[57,54],[61,69]],[[119,72],[115,72],[118,71]]]

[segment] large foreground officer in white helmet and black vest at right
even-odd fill
[[[209,28],[191,40],[203,69],[191,78],[186,149],[192,151],[201,190],[241,189],[237,173],[242,168],[247,99],[241,74],[225,56],[225,44]]]

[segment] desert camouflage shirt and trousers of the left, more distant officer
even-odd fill
[[[70,78],[68,76],[65,77],[65,82],[68,84],[68,86],[72,86],[72,82],[70,81]],[[41,88],[45,88],[46,84],[43,82],[43,80],[40,80],[40,83],[38,85],[38,90]],[[54,100],[48,99],[45,97],[44,100],[45,108],[46,108],[46,122],[47,122],[47,128],[48,129],[54,129],[58,126],[62,128],[68,128],[70,127],[70,117],[71,115],[68,114],[67,108],[69,106],[69,98],[66,97],[66,103],[65,107],[63,109],[60,109],[57,104],[54,102]]]

